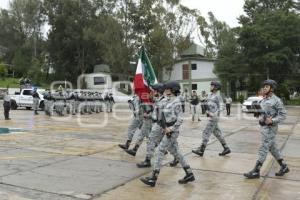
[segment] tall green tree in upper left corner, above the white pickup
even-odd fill
[[[28,71],[33,57],[44,51],[41,27],[42,1],[12,0],[9,10],[1,10],[0,45],[6,47],[6,63],[13,63],[17,76]]]

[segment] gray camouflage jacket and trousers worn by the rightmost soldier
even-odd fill
[[[273,124],[271,126],[261,126],[262,144],[258,151],[258,161],[264,163],[268,151],[271,152],[276,160],[280,160],[282,157],[277,148],[275,137],[278,131],[278,123],[286,118],[286,110],[281,100],[274,94],[271,97],[264,98],[260,105],[267,115],[261,115],[260,119],[263,117],[271,117]]]

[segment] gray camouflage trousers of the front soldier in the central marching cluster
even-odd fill
[[[171,137],[167,137],[164,135],[163,139],[159,143],[159,146],[156,149],[156,157],[154,160],[154,170],[160,170],[161,168],[161,163],[162,160],[165,156],[165,152],[168,150],[174,158],[179,160],[179,163],[181,164],[182,167],[188,168],[189,165],[187,164],[186,160],[184,159],[183,155],[181,154],[179,147],[178,147],[178,142],[177,138],[179,136],[179,132],[174,132]]]

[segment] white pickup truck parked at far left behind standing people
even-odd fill
[[[22,89],[20,94],[15,93],[15,95],[10,95],[11,97],[11,109],[16,110],[18,107],[25,107],[27,110],[30,110],[33,106],[33,97],[32,89]],[[39,94],[39,108],[44,109],[44,96],[41,93],[41,90],[37,90]]]

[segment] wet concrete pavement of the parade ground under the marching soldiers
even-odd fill
[[[135,166],[144,159],[145,142],[136,157],[117,146],[125,141],[130,119],[130,111],[119,108],[109,114],[51,118],[14,110],[12,120],[1,117],[0,127],[24,132],[0,135],[0,199],[300,199],[300,108],[288,108],[277,136],[291,170],[286,176],[275,177],[279,166],[268,155],[260,179],[243,177],[255,164],[261,137],[252,115],[234,107],[233,115],[220,121],[232,150],[225,157],[218,156],[222,147],[214,137],[203,158],[191,153],[201,143],[207,119],[191,122],[185,113],[179,145],[196,181],[179,185],[184,171],[169,167],[172,156],[167,155],[155,188],[139,180],[151,169]]]

